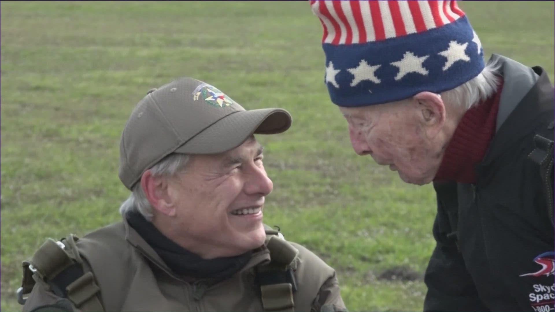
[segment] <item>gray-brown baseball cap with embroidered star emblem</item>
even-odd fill
[[[132,189],[171,153],[223,153],[251,134],[281,133],[290,126],[285,109],[245,110],[213,85],[179,78],[149,90],[134,108],[120,142],[119,178]]]

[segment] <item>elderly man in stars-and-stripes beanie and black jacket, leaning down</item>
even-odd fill
[[[311,1],[351,144],[433,182],[425,311],[553,311],[553,86],[455,1]]]

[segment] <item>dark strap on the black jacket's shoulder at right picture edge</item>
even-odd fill
[[[547,203],[547,213],[549,215],[549,220],[553,227],[555,227],[554,223],[554,170],[553,162],[554,162],[554,142],[553,142],[553,128],[555,122],[551,122],[547,129],[541,133],[534,135],[534,145],[536,148],[532,150],[532,152],[528,155],[528,158],[532,160],[534,163],[538,164],[539,167],[539,174],[542,178],[542,189],[543,194],[546,198]]]

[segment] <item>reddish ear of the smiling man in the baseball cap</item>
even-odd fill
[[[175,215],[175,208],[169,194],[169,185],[166,179],[155,178],[150,173],[150,170],[147,170],[140,179],[140,185],[154,209],[169,217]]]

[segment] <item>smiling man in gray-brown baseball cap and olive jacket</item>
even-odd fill
[[[150,90],[122,134],[123,221],[47,240],[23,263],[24,311],[345,311],[334,269],[262,223],[253,133],[290,125],[192,78]]]

